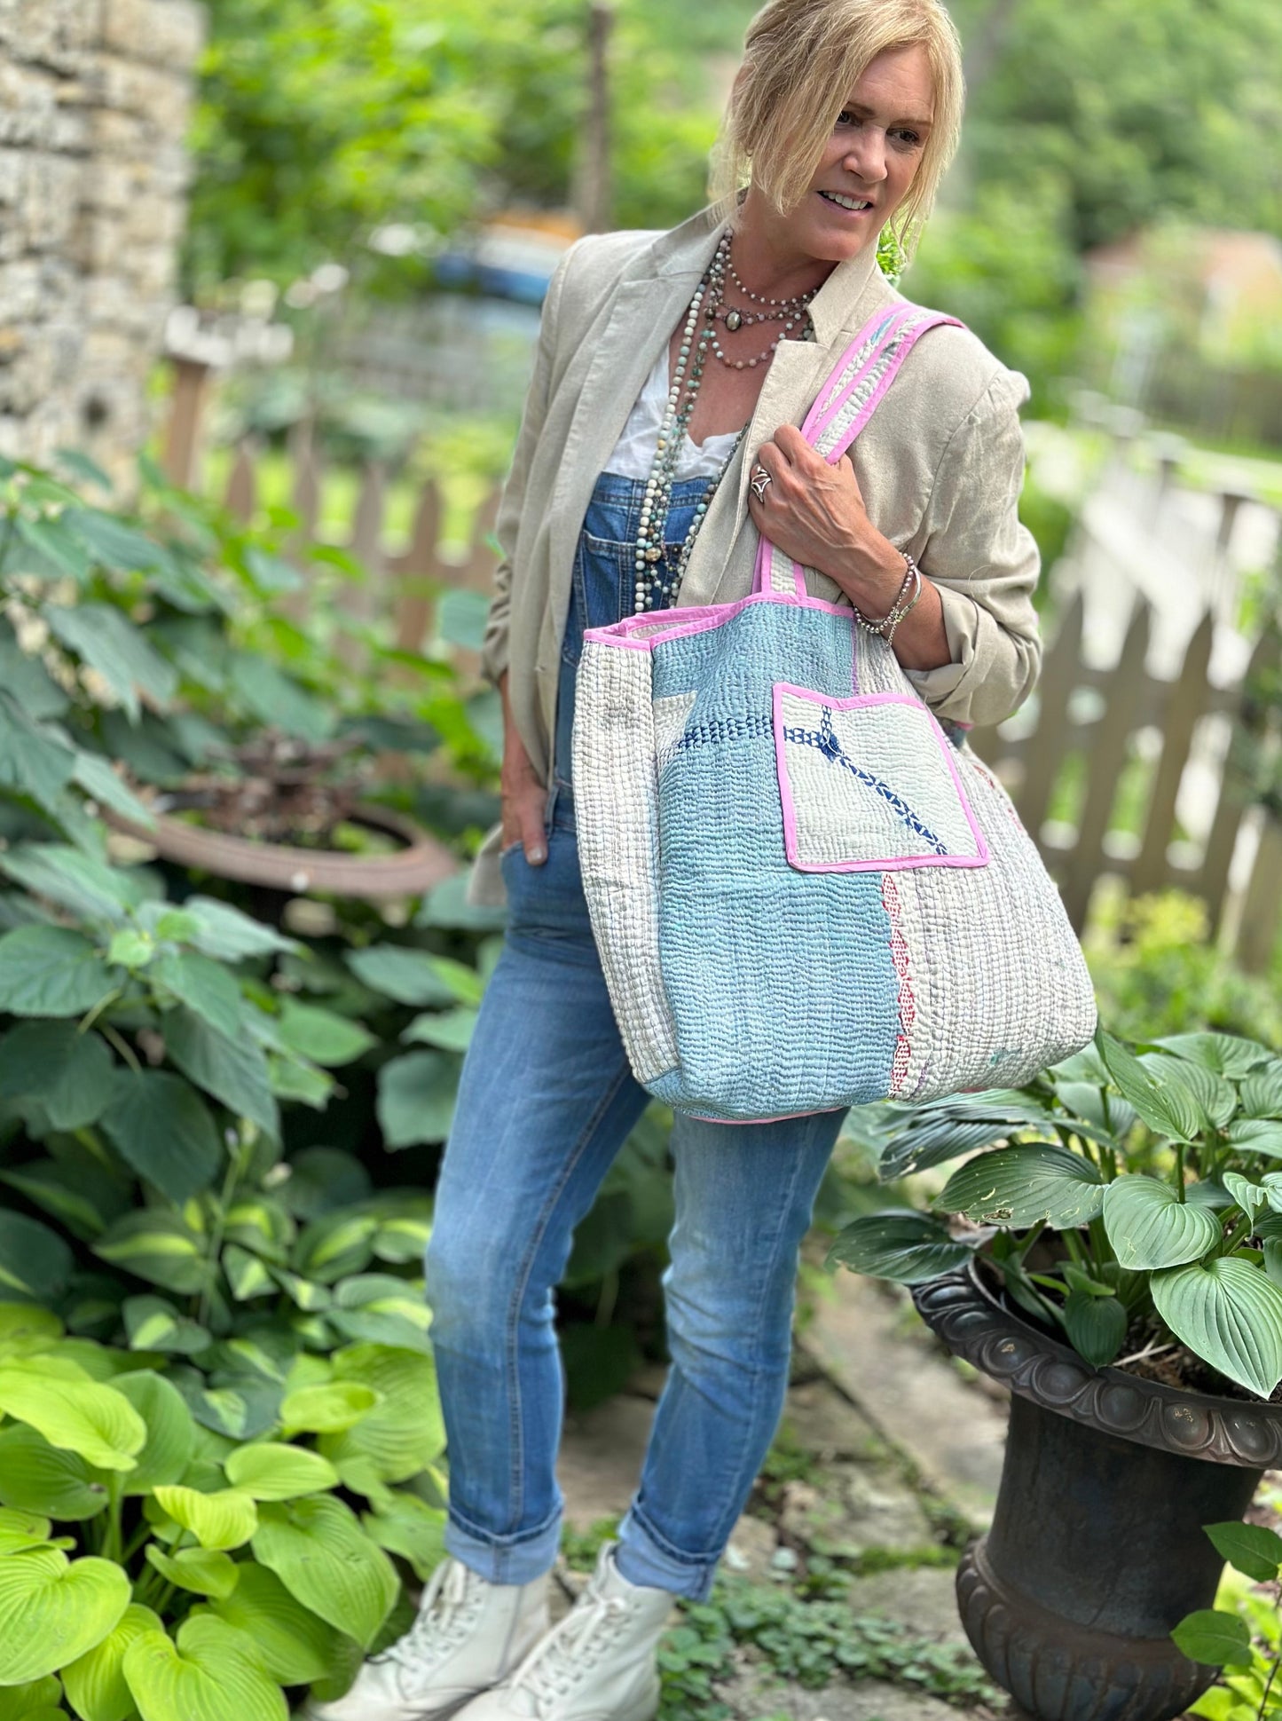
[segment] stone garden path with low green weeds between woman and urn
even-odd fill
[[[563,1606],[626,1508],[659,1385],[644,1372],[568,1420]],[[673,1616],[659,1721],[1005,1714],[953,1602],[960,1549],[991,1516],[1003,1435],[1003,1403],[962,1377],[903,1294],[835,1279],[712,1602]]]

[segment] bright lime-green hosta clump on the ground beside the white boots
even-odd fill
[[[0,1712],[277,1721],[346,1688],[441,1552],[430,1358],[299,1354],[255,1440],[160,1354],[0,1305]],[[213,1396],[213,1394],[210,1394]]]

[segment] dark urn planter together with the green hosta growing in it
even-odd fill
[[[988,1671],[1039,1721],[1165,1721],[1211,1680],[1203,1525],[1282,1456],[1282,1058],[1225,1034],[1096,1045],[1020,1091],[879,1108],[879,1172],[967,1155],[934,1212],[831,1258],[914,1287],[1012,1392],[989,1533],[957,1576]],[[977,1151],[981,1150],[981,1151]]]

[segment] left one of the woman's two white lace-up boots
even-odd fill
[[[545,1578],[489,1583],[446,1559],[404,1637],[367,1661],[346,1695],[310,1702],[299,1721],[444,1721],[506,1678],[547,1625]]]

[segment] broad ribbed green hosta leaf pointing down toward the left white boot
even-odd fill
[[[332,1494],[260,1508],[253,1554],[289,1594],[368,1649],[399,1580],[391,1559]]]

